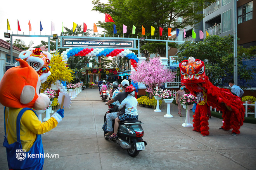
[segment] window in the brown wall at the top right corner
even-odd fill
[[[253,1],[238,7],[238,24],[246,22],[247,20],[253,19]]]

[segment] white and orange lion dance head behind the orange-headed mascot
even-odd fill
[[[19,54],[19,58],[28,62],[28,64],[33,67],[38,75],[40,76],[41,83],[44,83],[47,80],[47,77],[51,75],[50,60],[52,55],[48,52],[42,51],[40,48],[29,49],[27,51],[22,51]]]

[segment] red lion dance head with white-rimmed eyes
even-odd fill
[[[179,64],[182,84],[194,84],[204,82],[206,75],[204,72],[204,62],[194,57],[183,60]]]

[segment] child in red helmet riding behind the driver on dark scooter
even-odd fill
[[[115,128],[114,133],[109,136],[109,138],[117,138],[117,131],[119,127],[119,122],[135,119],[138,120],[138,110],[137,110],[137,104],[138,101],[134,97],[135,96],[135,88],[132,86],[126,87],[125,92],[128,94],[127,97],[121,102],[118,109],[122,109],[125,106],[125,114],[122,114],[121,116],[118,116],[115,119]]]

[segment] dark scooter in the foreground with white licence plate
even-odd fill
[[[104,116],[104,122],[106,123],[106,116],[111,112],[117,112],[117,105],[109,105],[109,110],[106,112]],[[114,120],[112,127],[114,129]],[[142,129],[143,123],[137,120],[125,120],[123,122],[119,122],[118,127],[118,137],[117,138],[109,138],[109,136],[104,136],[106,140],[111,140],[114,143],[117,143],[121,148],[125,149],[128,155],[135,157],[140,151],[145,150],[145,146],[147,142],[142,139],[144,136],[144,131]],[[103,127],[102,127],[103,128]],[[104,134],[107,133],[106,127],[104,130]]]

